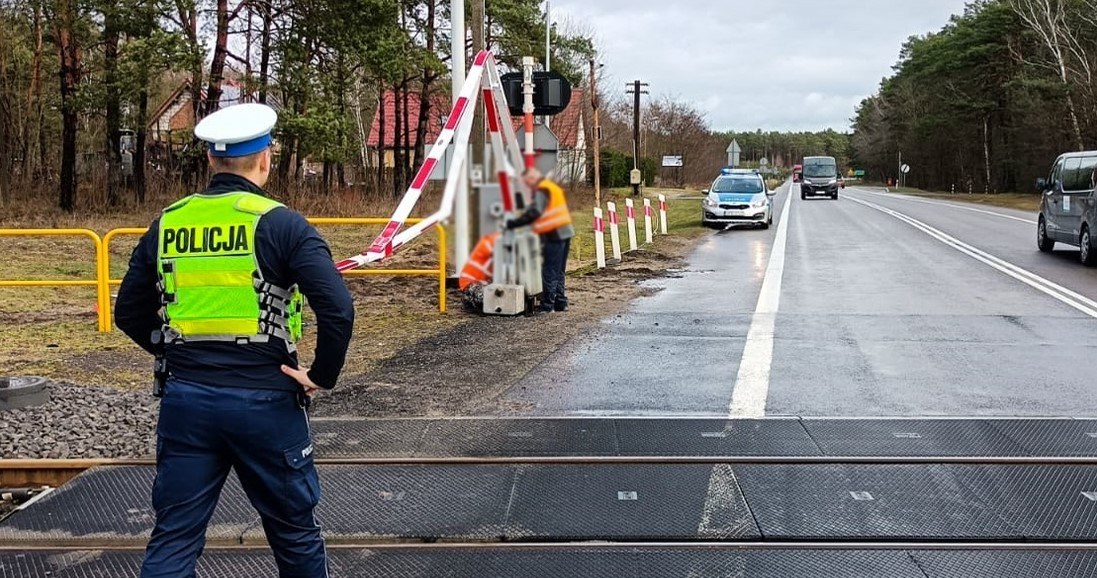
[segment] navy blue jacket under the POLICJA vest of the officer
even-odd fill
[[[213,177],[206,193],[249,191],[263,194],[252,182],[235,174]],[[157,284],[159,219],[140,238],[122,280],[114,320],[135,343],[150,353],[152,332],[162,326]],[[290,287],[297,284],[316,314],[316,358],[308,376],[316,385],[335,387],[347,358],[354,325],[354,307],[342,276],[336,271],[331,250],[305,217],[285,207],[267,213],[256,226],[256,256],[267,281]],[[297,355],[281,340],[238,345],[192,342],[163,348],[171,375],[188,382],[224,387],[258,389],[301,388],[282,373],[284,363],[297,366]]]

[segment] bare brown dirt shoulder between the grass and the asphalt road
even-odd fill
[[[400,349],[369,372],[344,375],[321,394],[313,415],[324,417],[476,416],[521,413],[502,394],[569,339],[651,290],[640,282],[681,268],[698,231],[664,237],[652,249],[603,270],[567,279],[569,309],[536,317],[453,313],[462,321]],[[453,302],[457,295],[453,294]]]

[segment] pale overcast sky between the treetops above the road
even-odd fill
[[[906,38],[940,30],[964,3],[552,0],[551,8],[555,22],[593,32],[622,92],[634,79],[649,82],[653,97],[692,102],[717,131],[847,131]]]

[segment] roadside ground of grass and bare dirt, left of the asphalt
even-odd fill
[[[625,256],[606,270],[591,265],[593,241],[589,207],[575,209],[576,230],[567,279],[572,308],[535,318],[482,317],[461,310],[450,291],[449,313],[438,313],[434,277],[371,276],[349,282],[357,318],[351,349],[339,387],[314,406],[319,416],[434,416],[521,411],[499,401],[500,395],[568,339],[597,328],[599,320],[623,309],[645,290],[638,282],[681,267],[682,258],[704,231],[697,223],[695,201],[671,199],[671,235]],[[624,195],[626,192],[609,194]],[[603,199],[610,199],[603,196]],[[617,199],[621,201],[621,199]],[[63,223],[95,230],[142,223],[144,216]],[[35,223],[8,223],[26,227]],[[50,225],[58,225],[56,223]],[[360,250],[370,231],[361,227],[321,230],[332,253]],[[388,268],[437,265],[434,235],[425,235],[386,263]],[[136,242],[112,245],[111,269],[124,273]],[[0,260],[0,279],[89,279],[93,265],[82,239],[14,238]],[[116,291],[116,290],[115,290]],[[90,287],[4,288],[0,299],[0,361],[4,374],[42,375],[55,382],[103,389],[143,392],[149,386],[151,358],[121,331],[95,331],[95,299]],[[306,308],[307,311],[307,308]],[[306,324],[309,318],[306,314]],[[302,362],[312,362],[315,332],[301,343]]]

